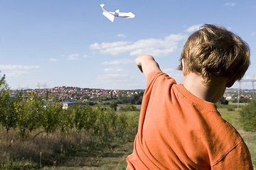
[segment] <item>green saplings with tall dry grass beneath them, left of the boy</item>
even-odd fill
[[[11,96],[0,81],[0,169],[40,169],[65,164],[134,140],[139,112],[76,104],[63,109],[55,97],[31,92]],[[134,118],[134,114],[136,118]]]

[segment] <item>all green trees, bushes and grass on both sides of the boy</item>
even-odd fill
[[[142,94],[63,109],[51,94],[11,96],[5,77],[0,78],[0,169],[125,169],[139,119],[132,103]],[[118,110],[120,101],[127,104]],[[217,106],[240,132],[256,164],[256,101],[242,103],[240,112],[225,100]]]

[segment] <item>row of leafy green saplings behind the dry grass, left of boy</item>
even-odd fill
[[[40,97],[30,92],[11,96],[5,76],[0,79],[0,124],[7,133],[11,129],[18,130],[23,140],[29,132],[38,128],[47,135],[56,129],[63,133],[84,129],[106,142],[113,136],[122,137],[131,128],[127,115],[115,113],[114,108],[92,108],[80,104],[68,109],[62,107],[60,101],[51,94]]]

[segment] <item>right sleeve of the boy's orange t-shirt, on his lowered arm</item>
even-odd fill
[[[218,164],[212,166],[212,170],[219,169],[253,170],[250,152],[244,142],[240,142]]]

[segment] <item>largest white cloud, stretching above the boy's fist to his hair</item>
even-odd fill
[[[150,53],[154,56],[169,55],[178,47],[178,41],[186,39],[186,35],[171,34],[164,39],[143,39],[136,42],[118,41],[118,42],[95,42],[90,45],[92,50],[100,50],[102,54],[119,55],[129,52],[129,55],[142,55]]]

